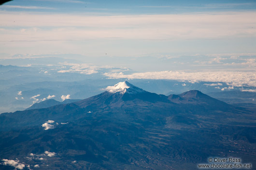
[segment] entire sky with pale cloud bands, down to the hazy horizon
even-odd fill
[[[198,71],[230,69],[213,56],[239,56],[243,64],[232,69],[252,71],[256,1],[13,0],[0,6],[0,36],[0,58],[50,55],[137,71]]]

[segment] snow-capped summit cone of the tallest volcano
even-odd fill
[[[128,81],[123,81],[123,82],[119,82],[117,84],[115,84],[114,86],[108,86],[106,88],[106,90],[108,92],[111,93],[116,93],[116,92],[120,92],[122,94],[124,93],[139,93],[139,92],[145,92],[142,89],[133,86],[132,84],[130,84]]]

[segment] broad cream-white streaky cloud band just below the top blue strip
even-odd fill
[[[40,40],[105,39],[106,37],[174,40],[255,37],[256,30],[252,28],[256,24],[252,19],[255,14],[255,12],[230,12],[88,16],[2,12],[0,22],[10,28],[1,31],[4,32],[1,39],[22,40],[19,38],[24,37],[24,34],[27,35],[26,40],[38,35],[43,37]],[[14,18],[15,22],[10,22]],[[12,29],[12,26],[41,27],[41,29],[35,32],[31,28],[21,32]]]

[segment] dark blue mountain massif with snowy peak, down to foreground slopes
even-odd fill
[[[70,102],[1,114],[0,169],[15,168],[7,159],[24,170],[195,170],[209,157],[256,166],[252,109],[196,90],[158,95],[127,81]]]

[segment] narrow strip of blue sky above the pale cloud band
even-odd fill
[[[256,9],[255,0],[13,0],[4,5],[20,6],[8,11],[51,13],[187,13],[210,11],[248,11]],[[25,8],[33,6],[38,8]],[[11,8],[11,7],[7,7]]]

